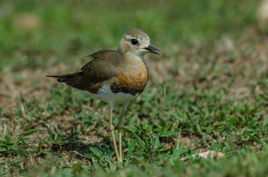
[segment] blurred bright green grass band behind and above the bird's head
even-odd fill
[[[117,49],[118,39],[131,27],[146,31],[151,43],[165,51],[164,56],[184,38],[184,44],[192,45],[211,44],[225,34],[238,39],[241,30],[256,25],[258,1],[115,3],[120,6],[99,1],[2,4],[5,11],[0,28],[5,35],[0,37],[0,66],[12,64],[18,70],[51,67],[63,61],[70,64],[72,57],[83,59],[97,50]],[[33,15],[36,23],[32,27],[20,25],[16,19],[21,14]],[[178,52],[171,54],[175,56]],[[52,57],[55,59],[48,62]]]

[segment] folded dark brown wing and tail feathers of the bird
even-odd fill
[[[64,82],[68,86],[97,93],[105,82],[111,81],[119,74],[115,63],[111,60],[117,57],[115,55],[117,55],[116,51],[101,50],[89,55],[94,59],[85,64],[81,68],[81,72],[48,77],[57,77],[60,78],[58,82]]]

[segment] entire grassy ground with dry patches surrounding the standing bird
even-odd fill
[[[2,2],[0,175],[265,176],[268,44],[259,4]],[[116,49],[131,27],[144,30],[163,55],[145,56],[158,88],[128,106],[120,165],[108,105],[78,91],[73,102],[71,89],[44,76],[78,71],[85,56]],[[114,109],[115,125],[121,110]],[[225,157],[191,156],[207,150]],[[184,156],[188,162],[179,160]]]

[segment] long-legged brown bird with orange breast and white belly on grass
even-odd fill
[[[118,44],[117,50],[100,50],[88,57],[93,58],[79,72],[56,77],[65,86],[74,88],[93,100],[102,100],[109,105],[109,125],[117,162],[122,159],[122,122],[130,101],[139,97],[149,80],[149,69],[144,59],[146,53],[161,55],[150,45],[149,36],[138,28],[127,30]],[[122,113],[117,123],[118,144],[114,137],[112,109],[122,104]]]

